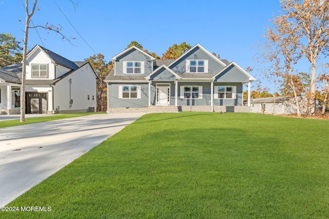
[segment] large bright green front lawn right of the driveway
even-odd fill
[[[1,218],[328,218],[329,121],[146,114]]]

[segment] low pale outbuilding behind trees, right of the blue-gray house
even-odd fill
[[[247,101],[246,101],[247,103]],[[294,114],[296,106],[289,97],[264,97],[250,100],[251,112],[267,114]]]

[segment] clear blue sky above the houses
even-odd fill
[[[72,2],[78,4],[74,7]],[[22,3],[25,1],[0,0],[0,32],[12,34],[18,41],[24,38],[26,12]],[[159,56],[173,44],[186,42],[191,46],[198,43],[244,69],[249,66],[257,69],[252,57],[256,51],[252,47],[261,41],[264,28],[269,25],[272,13],[280,10],[280,3],[279,0],[39,0],[37,9],[40,10],[32,17],[34,25],[62,26],[65,36],[76,39],[71,45],[57,33],[38,28],[39,37],[35,29],[30,29],[28,47],[39,44],[71,61],[83,61],[102,53],[109,62],[131,41]],[[255,70],[251,74],[257,77],[259,73]]]

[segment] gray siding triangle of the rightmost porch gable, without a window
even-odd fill
[[[221,74],[217,75],[215,82],[248,82],[249,77],[235,66],[230,66]]]

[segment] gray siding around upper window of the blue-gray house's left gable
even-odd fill
[[[124,74],[123,73],[123,62],[129,62],[129,61],[139,61],[144,62],[144,74]],[[121,56],[117,57],[117,60],[115,62],[115,74],[117,76],[122,75],[143,75],[147,76],[152,71],[152,61],[151,58],[146,56],[145,54],[137,51],[136,49],[132,49]]]

